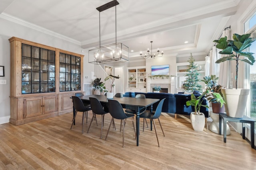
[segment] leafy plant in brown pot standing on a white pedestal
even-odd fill
[[[205,97],[212,104],[213,113],[224,113],[225,112],[225,100],[223,98],[221,89],[222,86],[217,84],[218,77],[216,75],[204,76],[202,82],[206,84]]]

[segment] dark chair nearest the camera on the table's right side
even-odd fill
[[[150,119],[150,120],[153,121],[153,123],[154,123],[154,128],[155,128],[155,132],[156,132],[156,124],[155,124],[155,120],[154,120],[154,119],[158,119],[163,134],[164,134],[164,131],[163,131],[162,125],[161,125],[161,123],[160,123],[159,117],[160,117],[161,112],[162,112],[162,107],[163,107],[164,100],[165,100],[165,98],[162,99],[162,100],[159,102],[158,106],[156,107],[156,111],[154,111],[154,112],[145,111],[144,113],[142,113],[142,114],[140,115],[140,117],[143,117],[143,118],[146,118],[146,119]],[[144,131],[144,120],[143,120],[143,131]],[[159,146],[158,137],[157,137],[157,133],[156,133],[156,139],[157,139],[158,147],[160,147],[160,146]]]

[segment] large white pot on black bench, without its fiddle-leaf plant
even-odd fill
[[[243,117],[249,89],[221,89],[226,101],[226,113],[230,117]]]

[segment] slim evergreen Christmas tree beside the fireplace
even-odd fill
[[[186,92],[193,92],[194,90],[198,90],[202,92],[202,86],[199,84],[200,79],[198,76],[200,75],[197,71],[197,64],[195,64],[195,59],[192,56],[192,53],[190,53],[190,57],[188,59],[188,69],[186,72],[188,72],[186,76],[186,80],[184,81],[184,89]]]

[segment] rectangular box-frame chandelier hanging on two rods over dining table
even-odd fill
[[[119,4],[117,0],[113,0],[104,4],[96,10],[100,12],[112,7],[116,7]],[[100,21],[100,20],[99,20]],[[92,64],[105,64],[105,63],[117,63],[129,61],[129,48],[122,43],[113,43],[110,45],[104,45],[88,51],[89,63]]]

